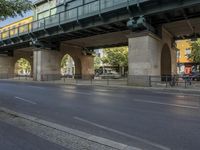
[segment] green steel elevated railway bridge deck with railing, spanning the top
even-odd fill
[[[75,0],[82,1],[82,0]],[[66,4],[64,4],[66,5]],[[168,22],[200,16],[199,0],[89,0],[79,6],[35,20],[5,31],[0,37],[0,53],[32,46],[34,42],[55,47],[60,41],[128,30],[130,18],[144,16],[159,34],[159,27]]]

